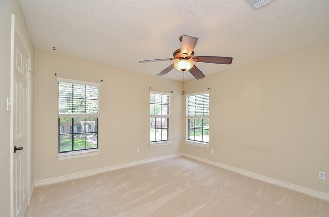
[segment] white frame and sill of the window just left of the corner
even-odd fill
[[[171,93],[166,93],[166,92],[159,92],[159,91],[152,91],[150,90],[149,92],[149,106],[152,104],[150,101],[151,94],[159,94],[159,95],[166,95],[168,96],[168,115],[151,115],[151,111],[149,111],[150,114],[150,119],[151,118],[167,118],[167,139],[166,140],[158,140],[158,141],[151,141],[150,138],[150,133],[151,133],[151,126],[149,127],[149,145],[150,147],[156,147],[156,146],[162,146],[162,145],[171,145],[170,141],[170,108],[171,108]],[[155,104],[155,103],[154,103]],[[150,106],[151,109],[151,106]],[[156,129],[156,128],[154,128]],[[160,128],[160,129],[165,129],[165,128]]]

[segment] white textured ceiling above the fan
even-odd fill
[[[231,66],[196,63],[206,76],[329,41],[327,0],[272,0],[258,9],[247,0],[20,3],[35,49],[151,75],[173,62],[138,62],[171,58],[181,35],[199,39],[195,56],[233,57]],[[163,77],[181,80],[182,73]]]

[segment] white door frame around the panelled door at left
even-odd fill
[[[17,34],[16,34],[16,33]],[[27,80],[27,201],[30,205],[32,193],[34,190],[34,185],[31,187],[31,52],[24,40],[22,31],[20,30],[15,14],[11,15],[11,54],[10,54],[10,101],[14,99],[14,41],[15,36],[17,36],[22,43],[23,49],[28,56],[28,80]],[[14,105],[10,103],[10,215],[14,216]]]

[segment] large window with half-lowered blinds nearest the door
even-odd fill
[[[58,152],[98,148],[98,83],[58,78]]]

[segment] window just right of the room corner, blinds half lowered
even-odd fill
[[[209,92],[186,95],[187,140],[209,143]]]

